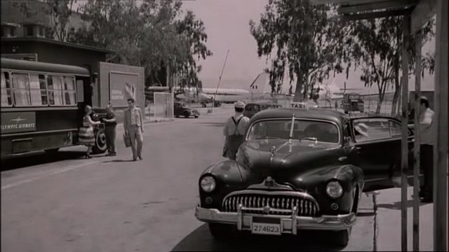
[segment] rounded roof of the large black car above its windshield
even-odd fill
[[[344,123],[347,116],[340,111],[330,110],[330,109],[269,109],[265,111],[260,111],[256,113],[255,116],[251,118],[251,121],[263,120],[263,119],[274,119],[274,118],[291,118],[295,114],[295,118],[308,118],[308,119],[320,119],[328,120],[337,124]]]

